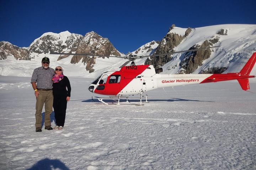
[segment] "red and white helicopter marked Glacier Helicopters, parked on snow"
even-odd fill
[[[219,46],[214,46],[219,47]],[[89,85],[89,91],[95,94],[111,96],[111,98],[98,98],[99,101],[107,104],[103,100],[112,99],[119,104],[120,97],[128,95],[140,95],[140,104],[142,105],[142,95],[144,92],[158,88],[173,87],[181,85],[212,83],[217,81],[238,80],[242,90],[249,90],[249,78],[254,78],[250,75],[252,68],[256,62],[256,52],[250,57],[245,66],[239,73],[227,74],[158,74],[162,72],[162,68],[156,69],[152,65],[138,65],[134,61],[144,57],[156,57],[162,55],[172,55],[174,53],[182,53],[188,51],[204,50],[214,47],[206,47],[201,49],[192,49],[185,51],[177,51],[164,54],[156,54],[149,56],[103,56],[90,54],[75,54],[75,53],[57,53],[50,54],[58,55],[80,55],[91,57],[117,57],[128,59],[119,71],[108,71],[102,73]],[[130,66],[126,66],[129,62]],[[126,97],[127,98],[127,97]],[[128,100],[127,100],[128,102]],[[147,102],[147,100],[146,100]]]

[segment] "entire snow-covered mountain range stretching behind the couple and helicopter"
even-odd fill
[[[256,51],[256,25],[223,24],[201,28],[179,28],[172,25],[161,41],[151,41],[128,55],[151,55],[211,46],[220,47],[143,58],[135,63],[162,67],[163,74],[239,72]],[[1,41],[0,59],[3,60],[0,60],[0,75],[30,77],[45,56],[50,58],[50,67],[62,66],[67,76],[87,78],[94,78],[107,70],[119,70],[119,66],[127,61],[114,57],[56,56],[50,55],[50,52],[123,55],[107,38],[95,32],[85,36],[67,31],[59,34],[45,33],[26,48]],[[252,72],[255,75],[256,68]]]

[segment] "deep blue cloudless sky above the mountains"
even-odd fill
[[[255,0],[1,0],[0,41],[28,47],[43,33],[94,31],[120,52],[161,40],[172,24],[256,24]]]

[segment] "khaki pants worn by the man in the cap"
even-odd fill
[[[42,123],[42,109],[43,105],[45,108],[44,114],[44,125],[51,125],[50,114],[53,108],[53,91],[43,91],[39,90],[40,95],[36,98],[36,128],[41,128]]]

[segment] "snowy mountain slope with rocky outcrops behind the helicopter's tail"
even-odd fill
[[[239,72],[256,51],[256,25],[225,24],[193,29],[171,27],[155,53],[210,46],[220,47],[154,57],[148,63],[162,67],[164,74]]]

